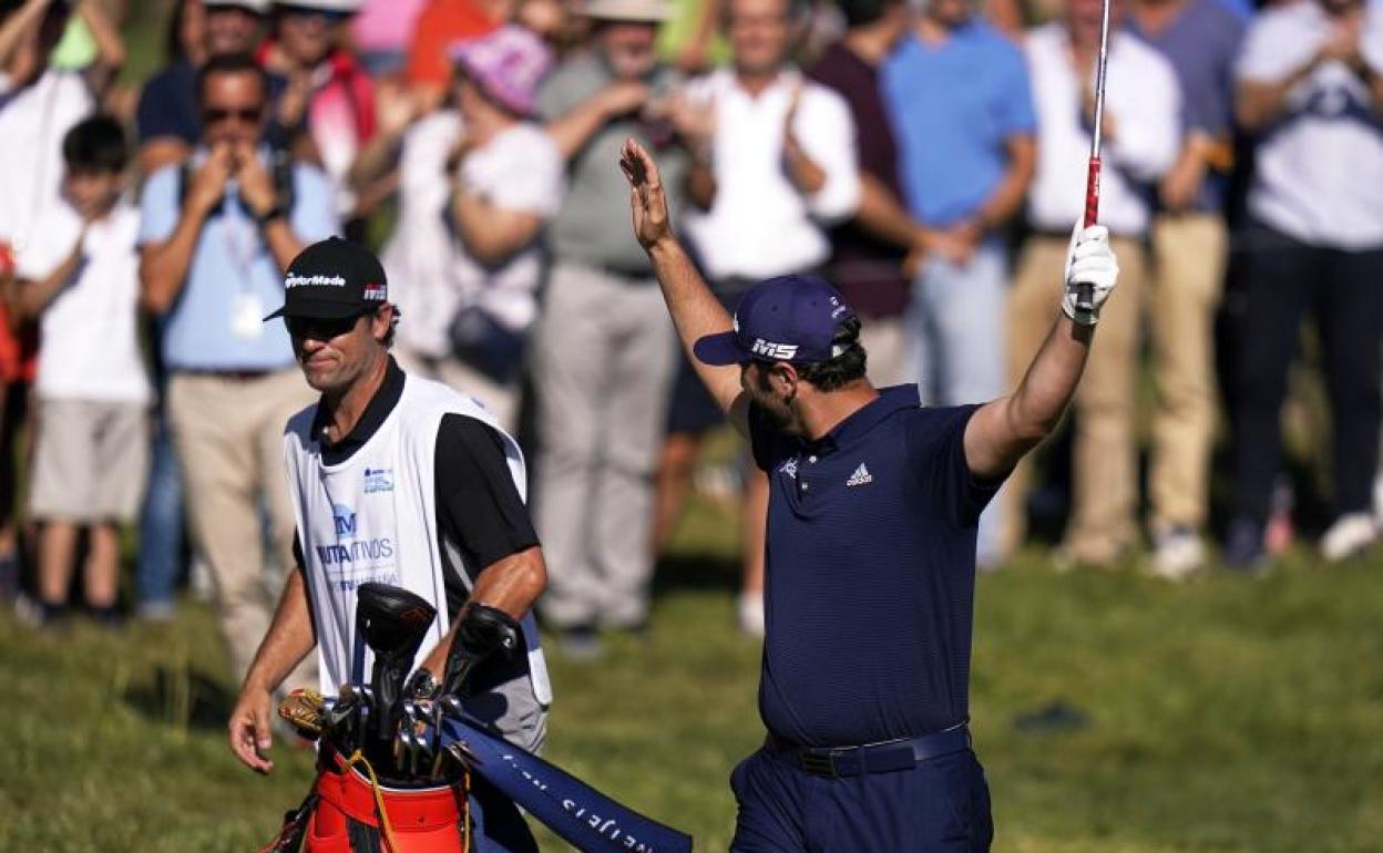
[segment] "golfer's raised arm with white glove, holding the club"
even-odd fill
[[[1033,357],[1018,388],[981,406],[965,427],[965,460],[979,478],[1001,477],[1051,434],[1076,393],[1090,355],[1099,308],[1115,288],[1119,264],[1102,225],[1077,232],[1066,259],[1062,312]],[[1075,307],[1076,289],[1090,283],[1094,311]]]

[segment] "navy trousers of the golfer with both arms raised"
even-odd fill
[[[730,774],[732,853],[986,853],[989,785],[969,749],[910,770],[812,776],[768,748]]]

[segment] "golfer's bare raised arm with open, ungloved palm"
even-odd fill
[[[682,348],[686,350],[711,397],[730,415],[736,429],[747,434],[748,404],[743,398],[740,369],[701,364],[692,353],[692,347],[701,337],[730,329],[730,315],[721,306],[721,300],[711,293],[696,264],[672,232],[658,165],[632,138],[625,140],[620,153],[620,169],[629,178],[633,234],[653,261],[653,272],[658,276],[658,286],[662,288],[662,299],[668,303]]]

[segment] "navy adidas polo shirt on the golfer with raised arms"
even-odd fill
[[[968,718],[975,528],[999,488],[965,463],[976,408],[885,388],[817,441],[751,408],[770,491],[759,713],[774,737],[848,747]]]

